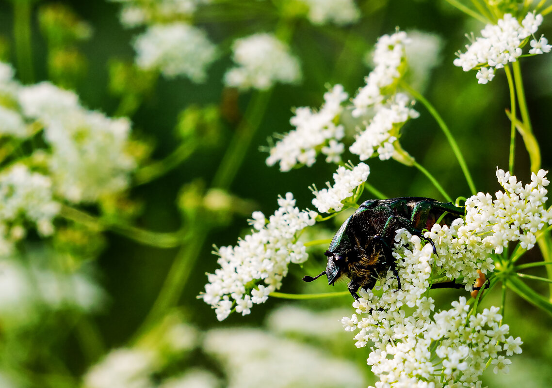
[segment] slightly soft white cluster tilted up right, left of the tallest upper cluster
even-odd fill
[[[311,166],[316,161],[317,152],[326,155],[328,163],[341,161],[344,146],[338,141],[344,136],[342,125],[336,125],[336,119],[343,111],[341,105],[348,94],[342,85],[335,85],[324,94],[324,103],[319,111],[309,107],[296,109],[290,123],[296,129],[285,134],[270,149],[267,164],[280,165],[280,171],[289,171],[298,164]]]

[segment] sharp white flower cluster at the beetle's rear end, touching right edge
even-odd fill
[[[504,192],[496,192],[496,200],[487,193],[478,193],[466,200],[466,217],[447,225],[433,225],[426,238],[437,248],[435,264],[451,279],[463,277],[466,290],[483,273],[495,267],[490,255],[501,254],[509,241],[519,241],[524,249],[531,249],[535,233],[552,224],[552,211],[545,208],[549,184],[546,171],[531,176],[525,186],[515,176],[497,170],[498,182]]]

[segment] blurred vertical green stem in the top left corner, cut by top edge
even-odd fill
[[[31,49],[31,0],[13,0],[13,37],[19,78],[23,83],[34,82],[33,50]]]

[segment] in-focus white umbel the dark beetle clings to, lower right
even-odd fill
[[[521,338],[508,336],[499,308],[469,311],[466,298],[460,297],[452,309],[436,311],[427,295],[432,279],[442,277],[463,279],[471,290],[477,269],[493,271],[495,252],[500,254],[509,241],[530,249],[534,234],[552,224],[552,213],[544,206],[546,171],[533,173],[524,186],[503,170],[497,170],[497,179],[504,191],[494,200],[478,193],[466,201],[465,219],[450,227],[434,224],[426,232],[437,255],[418,236],[398,230],[394,256],[402,289],[397,290],[388,271],[375,287],[381,295],[360,290],[355,314],[343,318],[345,330],[355,332],[357,347],[372,344],[367,361],[380,379],[378,388],[481,386],[489,359],[495,373],[507,372],[511,361],[504,354],[521,353]]]

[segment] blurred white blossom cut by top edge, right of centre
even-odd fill
[[[354,0],[301,0],[309,7],[307,18],[312,24],[334,23],[346,25],[360,18],[360,10]]]

